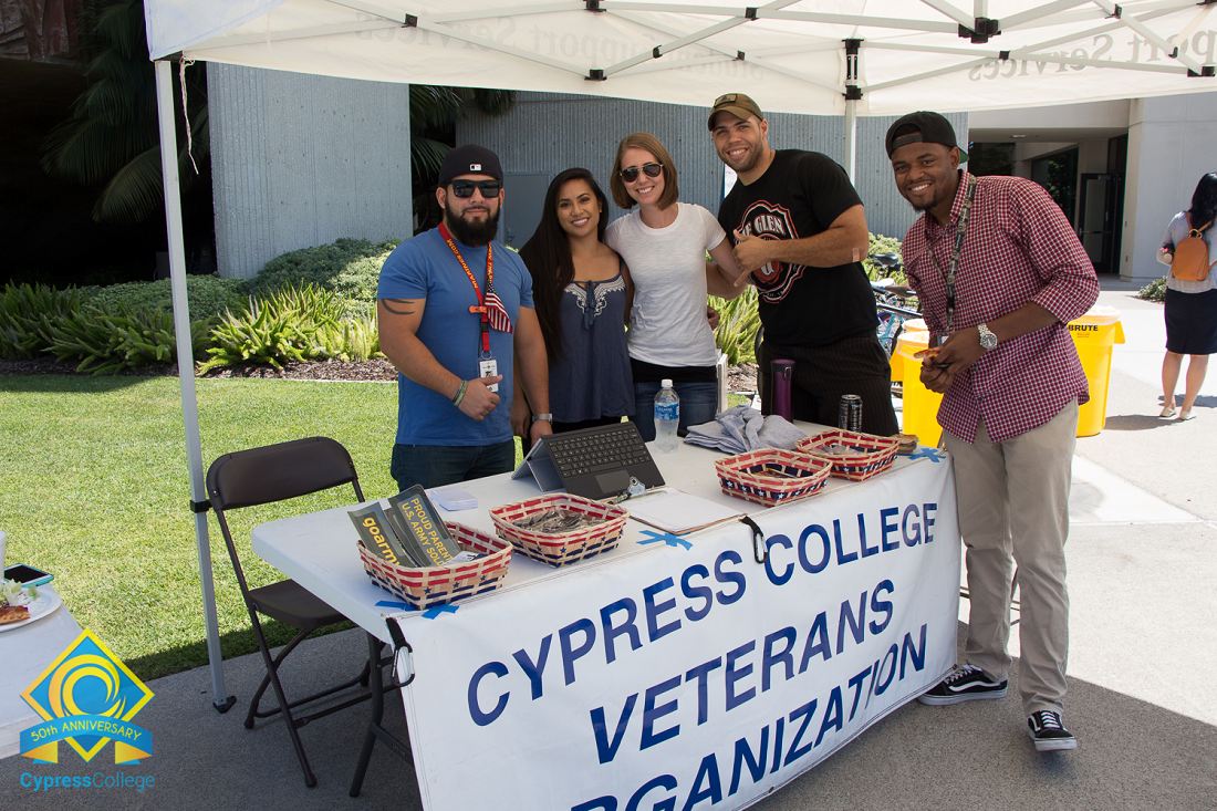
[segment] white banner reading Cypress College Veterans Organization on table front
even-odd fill
[[[755,520],[404,616],[424,807],[746,807],[954,665],[948,460]]]

